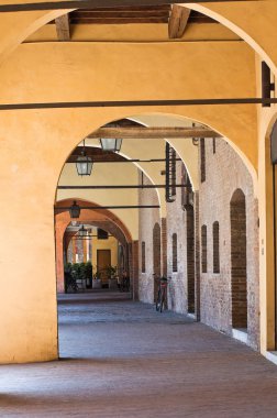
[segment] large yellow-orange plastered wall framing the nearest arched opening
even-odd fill
[[[254,69],[253,52],[236,42],[24,44],[1,67],[0,100],[254,96]],[[232,79],[232,85],[226,79]],[[100,125],[149,112],[203,121],[233,140],[256,165],[256,113],[251,106],[0,112],[0,185],[9,202],[2,209],[3,234],[12,243],[12,251],[7,240],[0,244],[4,276],[0,287],[4,301],[0,306],[0,336],[5,336],[0,362],[57,355],[53,205],[65,160],[80,140]],[[22,252],[25,242],[29,257]],[[21,266],[15,275],[10,268],[14,258]],[[11,306],[12,315],[7,315]],[[19,323],[26,306],[25,319]]]

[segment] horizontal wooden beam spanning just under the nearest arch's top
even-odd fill
[[[122,139],[185,139],[185,138],[222,138],[208,128],[100,128],[91,133],[89,139],[122,138]]]

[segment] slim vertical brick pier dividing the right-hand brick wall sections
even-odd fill
[[[200,240],[199,240],[199,191],[195,193],[195,292],[196,318],[200,321]]]

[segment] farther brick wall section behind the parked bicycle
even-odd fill
[[[176,184],[181,183],[181,166],[182,163],[177,162]],[[141,179],[141,176],[138,178]],[[146,182],[147,179],[144,178],[145,184],[147,184]],[[140,205],[156,205],[158,201],[156,191],[153,189],[140,190],[138,196]],[[140,211],[140,299],[153,302],[157,290],[155,282],[153,282],[153,273],[164,274],[170,277],[168,308],[177,312],[193,312],[196,289],[195,212],[192,207],[188,210],[182,208],[180,188],[176,188],[176,200],[167,204],[167,218],[159,220],[158,217],[157,209]],[[145,242],[145,273],[142,272],[143,242]],[[175,250],[174,242],[176,242]],[[174,253],[177,255],[175,263]],[[176,265],[174,266],[174,264]]]

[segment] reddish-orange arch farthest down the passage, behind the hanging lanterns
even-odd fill
[[[101,209],[99,205],[91,201],[75,199],[81,209],[80,217],[76,220],[80,222],[92,222],[100,228],[106,228],[111,232],[114,238],[123,245],[125,252],[132,245],[132,237],[124,223],[110,210]],[[55,240],[56,240],[56,276],[57,276],[57,292],[64,293],[64,235],[67,226],[70,223],[71,218],[68,207],[73,205],[73,199],[60,200],[55,205]],[[89,209],[91,207],[92,209]],[[97,209],[96,207],[99,207]],[[69,242],[66,241],[68,244]],[[128,258],[128,257],[126,257]],[[131,262],[131,261],[130,261]]]

